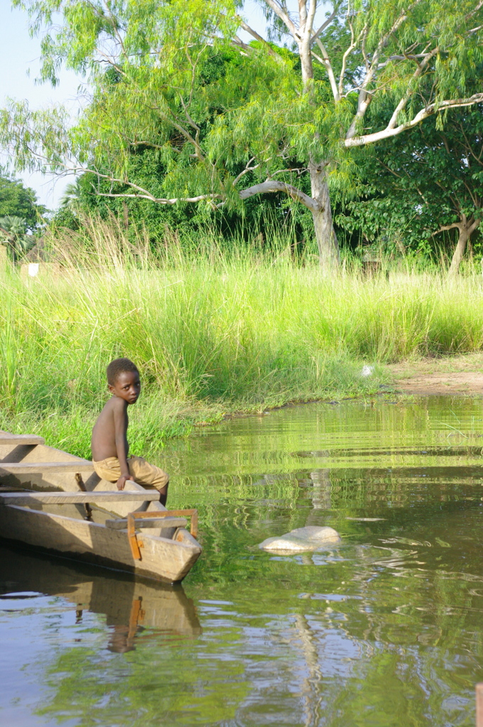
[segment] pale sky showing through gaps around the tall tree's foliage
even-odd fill
[[[261,35],[264,35],[265,18],[263,11],[255,0],[246,0],[244,18]],[[240,31],[241,39],[251,39],[244,31]],[[72,113],[76,113],[79,103],[76,102],[77,91],[82,79],[71,71],[62,69],[59,73],[60,84],[52,88],[50,84],[36,84],[35,79],[40,68],[40,39],[31,38],[28,32],[27,14],[19,9],[12,9],[9,0],[0,0],[0,108],[7,97],[27,99],[31,108],[44,108],[54,103],[68,103]],[[5,157],[0,156],[0,164]],[[55,209],[65,190],[65,185],[72,177],[44,177],[42,174],[25,172],[17,174],[28,187],[36,191],[39,202],[48,209]]]

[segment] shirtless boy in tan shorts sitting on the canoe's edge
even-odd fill
[[[100,478],[124,488],[127,480],[159,491],[159,502],[166,505],[169,476],[143,457],[128,457],[127,407],[139,398],[141,382],[137,366],[129,358],[116,358],[107,368],[112,398],[105,404],[92,429],[92,464]]]

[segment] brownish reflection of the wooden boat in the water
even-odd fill
[[[110,651],[124,653],[135,640],[159,635],[201,634],[196,609],[183,586],[134,579],[118,571],[57,558],[36,556],[0,547],[0,597],[8,593],[41,593],[59,596],[76,608],[76,622],[84,611],[105,614],[111,630]]]

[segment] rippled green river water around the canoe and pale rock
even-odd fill
[[[170,443],[169,504],[204,545],[183,587],[1,550],[0,724],[474,726],[482,419],[310,404]],[[307,524],[342,545],[256,547]]]

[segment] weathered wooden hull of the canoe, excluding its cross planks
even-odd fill
[[[7,434],[7,433],[1,433]],[[12,473],[7,471],[8,463],[22,462],[35,465],[35,472]],[[84,486],[87,491],[116,491],[116,484],[100,480],[92,463],[67,452],[44,444],[18,445],[1,443],[0,437],[0,482],[2,485],[28,487],[35,491],[79,492],[75,472],[65,473],[63,468],[52,471],[42,463],[72,462],[84,465]],[[5,467],[2,470],[2,464]],[[38,465],[38,469],[37,469]],[[92,470],[89,470],[90,465]],[[12,468],[11,468],[12,469]],[[74,470],[76,467],[74,467]],[[135,483],[129,489],[144,491]],[[185,529],[157,528],[143,530],[137,535],[140,560],[133,557],[127,530],[107,528],[104,522],[112,513],[125,518],[130,512],[148,510],[156,513],[166,510],[159,502],[112,502],[107,510],[95,510],[95,522],[86,521],[83,505],[35,505],[19,507],[0,505],[0,538],[23,543],[36,550],[44,550],[64,558],[88,561],[108,568],[135,573],[144,577],[175,583],[183,580],[196,563],[201,546]],[[68,515],[72,515],[71,517]],[[176,539],[173,535],[176,531]]]

